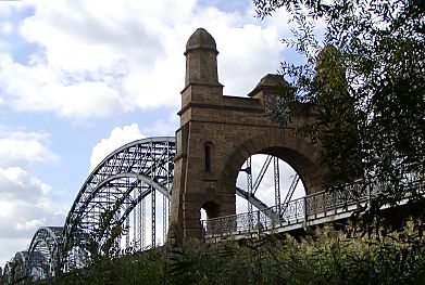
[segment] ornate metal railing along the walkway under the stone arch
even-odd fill
[[[409,184],[423,192],[423,178],[416,178]],[[355,181],[334,191],[314,193],[270,208],[202,220],[202,238],[273,232],[288,225],[350,212],[385,193],[387,186],[387,182],[364,186],[362,181]]]

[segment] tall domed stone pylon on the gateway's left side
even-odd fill
[[[172,224],[180,238],[200,238],[200,209],[208,208],[208,203],[207,206],[203,203],[209,197],[212,200],[217,198],[214,194],[216,178],[211,168],[211,145],[204,141],[200,132],[201,122],[196,120],[197,115],[192,113],[202,112],[202,107],[220,102],[223,96],[223,86],[218,82],[217,54],[215,40],[204,28],[198,28],[187,41],[185,89],[182,91],[182,109],[178,113],[182,127],[176,132],[172,195]],[[205,152],[209,152],[209,157],[205,157]],[[210,206],[208,212],[218,216],[218,206],[213,203]],[[221,212],[235,213],[234,197]]]

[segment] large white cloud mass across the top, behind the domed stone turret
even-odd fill
[[[216,39],[225,93],[245,95],[278,69],[278,35],[287,28],[285,23],[264,27],[253,20],[253,9],[223,12],[195,0],[28,3],[35,12],[20,33],[41,52],[27,64],[2,55],[3,100],[17,111],[54,113],[76,122],[135,108],[177,107],[185,44],[201,26]]]

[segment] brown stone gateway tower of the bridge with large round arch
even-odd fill
[[[186,79],[182,91],[180,128],[171,221],[179,238],[200,238],[200,209],[208,218],[236,213],[236,179],[246,159],[271,154],[288,163],[305,191],[323,190],[326,169],[321,150],[295,133],[307,117],[282,126],[270,115],[282,76],[267,75],[247,98],[223,95],[214,38],[197,29],[186,44]]]

